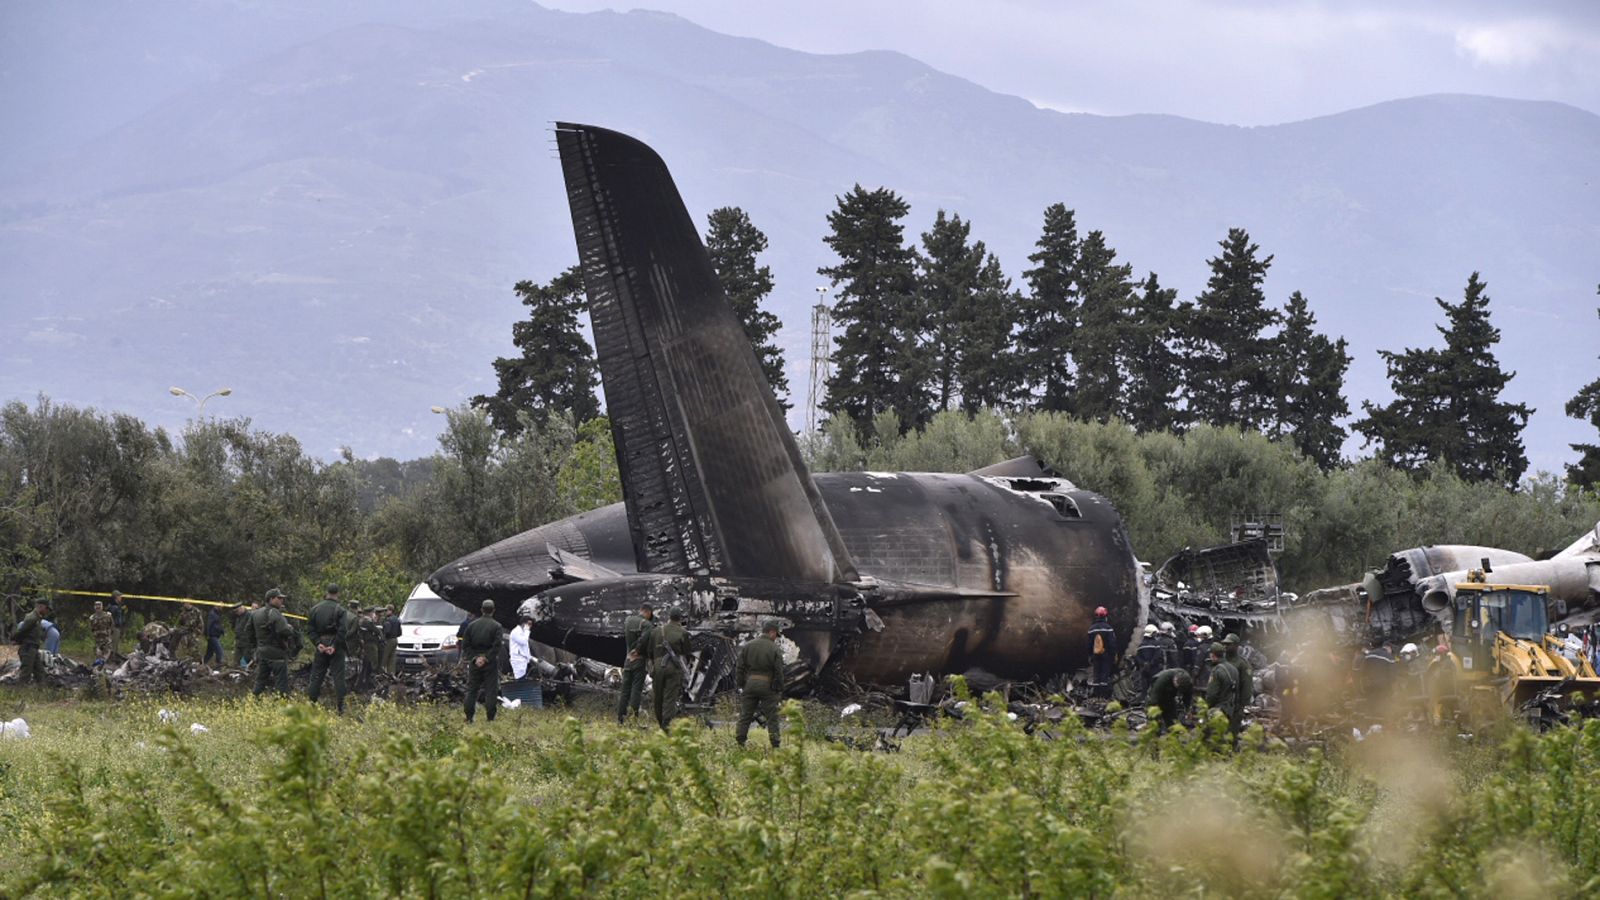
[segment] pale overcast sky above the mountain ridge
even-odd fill
[[[1267,125],[1429,93],[1600,112],[1600,0],[539,0],[899,50],[1061,110]]]

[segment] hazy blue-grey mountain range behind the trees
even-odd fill
[[[437,6],[437,8],[435,8]],[[522,2],[16,2],[0,10],[0,397],[181,424],[230,386],[318,455],[434,448],[427,408],[491,389],[510,285],[574,259],[550,122],[629,131],[691,211],[766,231],[805,392],[824,216],[851,184],[941,207],[1019,275],[1051,202],[1192,296],[1229,226],[1350,340],[1430,344],[1435,295],[1488,280],[1536,468],[1592,437],[1600,117],[1480,96],[1286,125],[1037,109],[896,53],[818,56],[659,13]]]

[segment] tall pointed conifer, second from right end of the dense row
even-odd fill
[[[1219,247],[1206,288],[1182,307],[1184,392],[1197,421],[1259,429],[1275,392],[1262,331],[1278,312],[1261,290],[1272,256],[1258,258],[1261,247],[1242,227],[1227,229]]]

